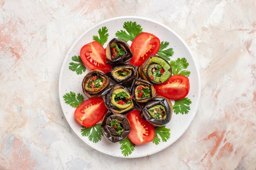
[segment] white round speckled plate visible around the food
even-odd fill
[[[61,102],[61,108],[63,110],[63,113],[65,115],[65,118],[67,119],[67,122],[69,123],[70,127],[74,130],[76,135],[78,135],[86,144],[91,146],[94,149],[99,150],[100,152],[106,153],[108,155],[116,156],[116,157],[125,157],[121,153],[120,144],[112,143],[105,137],[102,137],[101,141],[97,143],[93,143],[88,139],[88,137],[83,137],[81,135],[81,125],[76,121],[74,118],[74,111],[75,108],[72,108],[70,105],[65,104],[63,95],[65,93],[69,93],[70,91],[83,94],[82,90],[82,80],[83,77],[90,71],[88,68],[86,69],[86,72],[77,75],[76,72],[71,71],[69,69],[69,63],[72,61],[72,56],[80,55],[80,49],[83,45],[88,44],[93,41],[92,36],[98,35],[98,30],[102,28],[103,26],[106,26],[108,29],[109,37],[108,41],[112,40],[112,38],[116,38],[115,33],[119,30],[124,30],[123,24],[127,21],[136,21],[137,24],[140,24],[143,28],[143,32],[153,33],[156,35],[159,40],[170,42],[168,48],[173,48],[174,55],[171,57],[171,60],[176,60],[177,58],[185,57],[187,62],[189,63],[189,66],[187,70],[191,71],[191,74],[189,76],[189,82],[190,82],[190,91],[187,97],[191,99],[190,104],[190,110],[188,114],[175,114],[173,113],[171,121],[166,125],[166,128],[170,128],[171,136],[166,141],[163,142],[162,139],[158,145],[153,144],[152,142],[144,145],[139,145],[135,147],[135,150],[126,158],[135,158],[135,157],[144,157],[147,155],[152,155],[156,152],[159,152],[161,150],[164,150],[171,144],[173,144],[177,139],[179,139],[183,133],[186,131],[186,129],[191,124],[192,120],[195,117],[195,114],[197,112],[199,99],[200,99],[200,91],[201,91],[201,85],[200,85],[200,75],[198,68],[196,66],[195,60],[189,51],[188,46],[186,43],[180,38],[177,33],[172,31],[170,28],[165,26],[164,24],[161,24],[159,22],[147,19],[147,18],[141,18],[141,17],[135,17],[135,16],[124,16],[124,17],[117,17],[117,18],[111,18],[108,20],[105,20],[103,22],[100,22],[99,24],[96,24],[92,28],[90,28],[88,31],[83,33],[76,42],[71,46],[70,50],[68,51],[62,67],[61,67],[61,73],[59,77],[59,97]],[[108,42],[104,44],[104,48],[106,48],[106,45]],[[129,42],[131,44],[131,42]],[[85,99],[88,99],[85,95],[83,95]],[[171,101],[173,104],[175,101]]]

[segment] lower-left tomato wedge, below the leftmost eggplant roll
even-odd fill
[[[75,110],[76,120],[85,127],[91,127],[97,124],[103,116],[107,113],[103,99],[101,97],[94,97],[85,100]]]

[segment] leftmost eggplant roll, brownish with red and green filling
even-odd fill
[[[99,96],[109,88],[109,83],[110,79],[102,71],[90,71],[83,78],[83,93],[89,98]]]

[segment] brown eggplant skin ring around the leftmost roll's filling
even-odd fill
[[[94,93],[94,92],[90,92],[90,91],[87,91],[85,90],[85,84],[87,82],[88,79],[90,79],[91,76],[93,76],[94,74],[99,74],[101,75],[102,77],[105,77],[106,78],[106,87],[101,89],[101,91],[97,92],[97,93]],[[88,98],[92,98],[92,97],[98,97],[101,95],[101,93],[103,93],[103,91],[106,91],[108,88],[110,87],[110,79],[109,77],[104,74],[102,71],[99,71],[99,70],[94,70],[94,71],[90,71],[87,75],[85,75],[85,77],[83,78],[83,82],[82,82],[82,89],[83,89],[83,93],[88,97]]]

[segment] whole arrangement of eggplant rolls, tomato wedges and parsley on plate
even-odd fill
[[[136,22],[124,22],[123,27],[128,33],[117,31],[109,42],[108,29],[102,27],[99,36],[81,48],[80,56],[72,57],[78,63],[70,62],[71,71],[79,75],[86,67],[91,70],[81,80],[88,99],[74,92],[63,99],[76,108],[74,117],[83,136],[95,143],[102,135],[119,142],[128,156],[136,145],[159,144],[159,136],[166,142],[170,137],[166,124],[171,123],[173,112],[188,113],[190,71],[186,58],[170,59],[174,52],[166,49],[168,42],[142,32]]]

